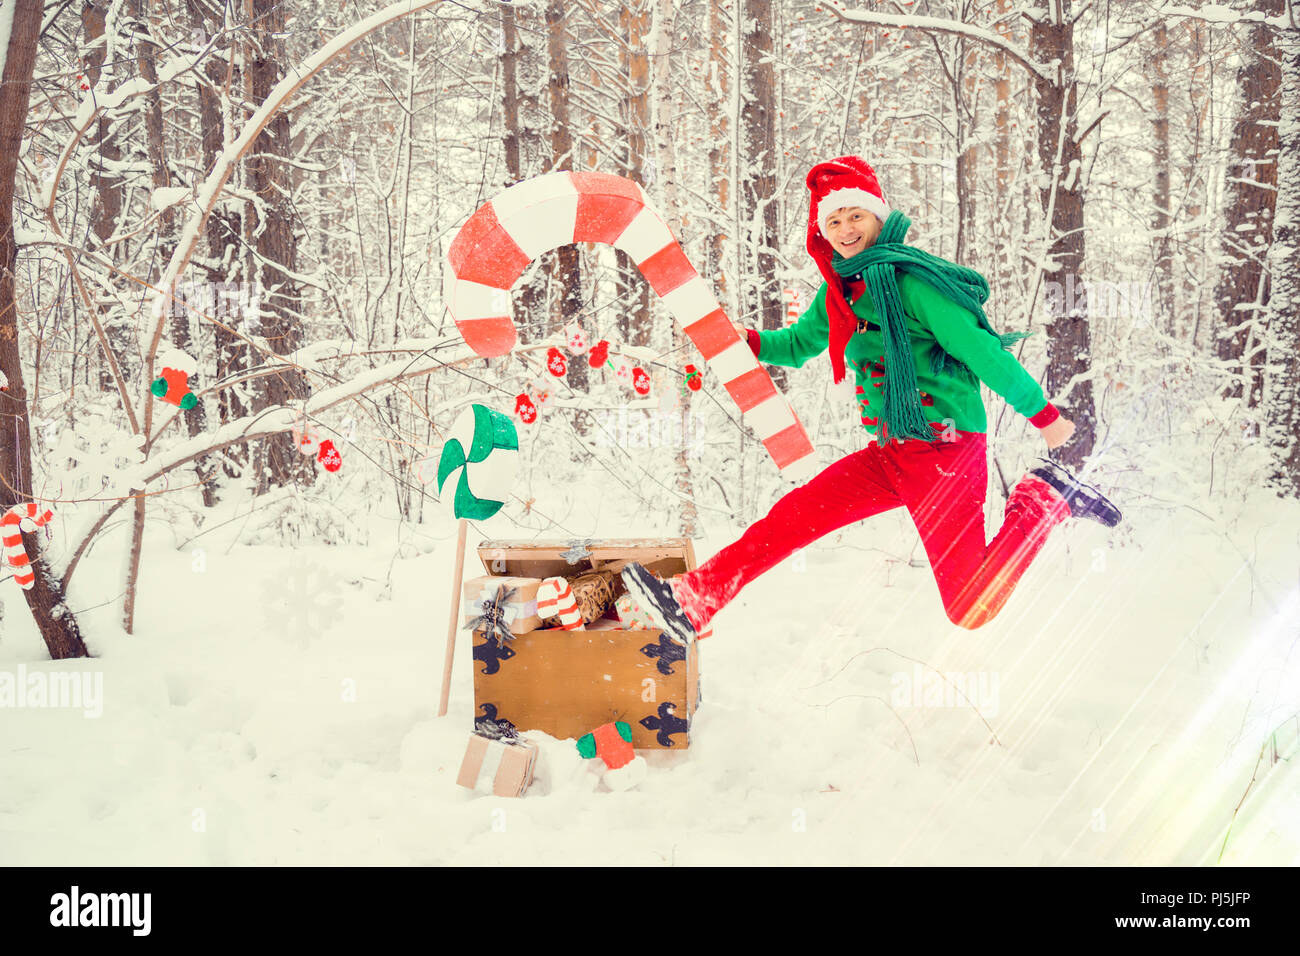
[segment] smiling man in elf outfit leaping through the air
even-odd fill
[[[911,220],[889,208],[870,165],[857,156],[820,163],[807,187],[807,251],[826,281],[793,325],[737,332],[777,365],[797,368],[829,349],[836,382],[854,371],[858,414],[875,441],[785,494],[694,571],[663,581],[628,564],[628,589],[682,644],[794,549],[889,509],[911,514],[944,610],[965,628],[993,619],[1057,524],[1119,523],[1105,496],[1041,459],[1011,488],[1002,527],[985,540],[980,382],[1049,449],[1069,441],[1074,424],[1006,351],[1019,336],[993,330],[984,277],[904,242]]]

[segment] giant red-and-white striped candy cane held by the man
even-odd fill
[[[465,342],[484,356],[517,341],[510,289],[542,252],[572,242],[623,250],[727,386],[781,473],[806,475],[812,442],[767,371],[732,328],[708,284],[632,179],[549,173],[484,203],[447,251],[443,300]]]

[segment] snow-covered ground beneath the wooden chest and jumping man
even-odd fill
[[[978,631],[909,564],[902,512],[852,525],[715,619],[689,750],[646,752],[641,787],[608,792],[533,735],[517,800],[455,783],[465,632],[434,717],[448,522],[296,549],[235,544],[233,522],[177,550],[153,527],[134,636],[110,537],[74,583],[94,659],[48,661],[4,583],[0,674],[101,696],[0,710],[0,862],[1295,864],[1300,771],[1260,753],[1300,710],[1300,506],[1126,518],[1056,532]],[[710,527],[699,558],[736,531]],[[582,533],[637,528],[607,511]]]

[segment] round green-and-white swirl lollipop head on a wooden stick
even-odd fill
[[[500,511],[517,472],[515,423],[485,405],[472,405],[452,424],[442,446],[438,494],[451,502],[456,518],[484,520]]]

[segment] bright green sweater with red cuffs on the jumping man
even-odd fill
[[[857,377],[862,424],[879,437],[884,376],[889,371],[884,367],[884,336],[871,297],[861,286],[855,286],[854,291],[858,295],[852,304],[858,316],[858,332],[849,339],[844,359]],[[829,319],[826,293],[823,282],[812,304],[793,325],[758,333],[760,362],[798,368],[827,350]],[[939,350],[965,363],[1020,415],[1034,418],[1046,408],[1043,388],[1011,352],[1002,349],[996,336],[980,328],[974,312],[910,273],[898,274],[898,294],[907,317],[922,411],[935,429],[936,440],[946,428],[988,431],[979,381],[961,371],[931,371],[940,364],[933,362]]]

